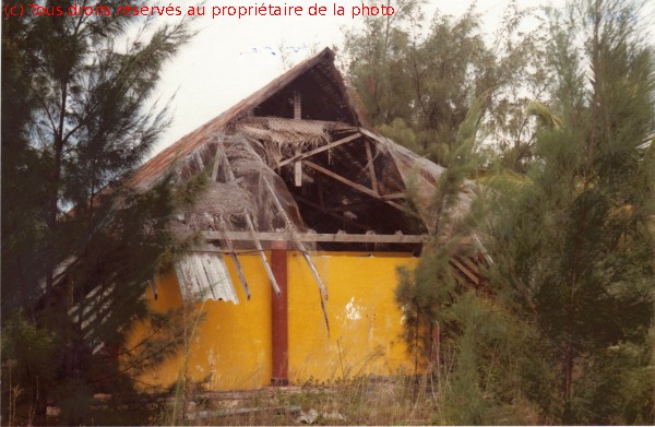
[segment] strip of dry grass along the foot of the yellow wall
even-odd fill
[[[196,394],[189,425],[426,425],[433,395],[408,377]]]

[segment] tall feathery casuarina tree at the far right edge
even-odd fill
[[[540,331],[557,376],[527,389],[563,423],[655,415],[655,51],[638,16],[616,0],[552,13],[537,161],[491,194],[490,283]]]

